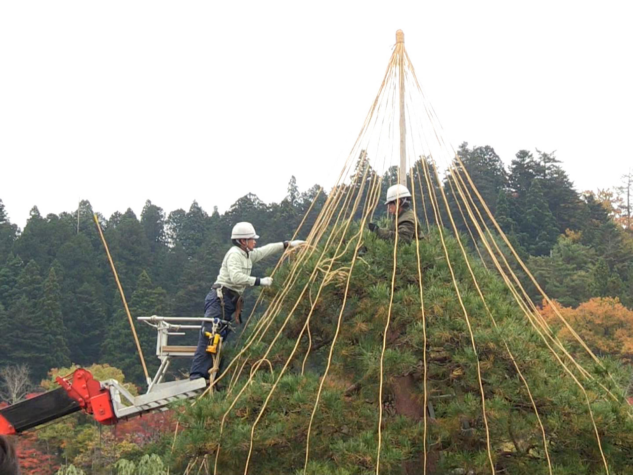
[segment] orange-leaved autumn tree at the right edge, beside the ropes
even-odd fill
[[[633,362],[633,310],[624,307],[617,297],[592,298],[577,308],[555,305],[594,353]],[[551,305],[544,302],[542,315],[553,329],[559,330],[560,339],[575,342]]]

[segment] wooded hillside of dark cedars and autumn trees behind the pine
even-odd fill
[[[633,361],[633,174],[614,175],[612,189],[580,192],[553,153],[521,150],[508,167],[491,146],[464,143],[458,155],[565,319],[593,352],[628,370]],[[387,171],[381,196],[396,174],[394,168]],[[446,189],[449,206],[459,216],[448,186],[434,186]],[[292,177],[280,203],[266,204],[247,194],[222,215],[217,209],[206,212],[196,201],[188,211],[166,213],[147,200],[140,219],[130,209],[106,218],[89,201],[82,201],[78,210],[46,217],[34,206],[23,230],[11,224],[0,200],[0,401],[13,403],[29,392],[51,389],[54,376],[67,374],[72,365],[91,369],[97,379],[115,377],[142,386],[134,340],[93,213],[104,230],[132,317],[197,317],[230,246],[232,225],[252,222],[265,244],[290,239],[307,212],[298,236],[304,238],[325,203],[327,191],[319,190],[315,185],[302,193]],[[375,220],[384,220],[383,208],[379,206]],[[426,213],[420,203],[420,220]],[[456,225],[460,232],[470,232],[465,222]],[[479,252],[472,244],[470,251]],[[385,249],[387,260],[389,252]],[[258,264],[254,275],[267,275],[266,268],[275,262]],[[554,322],[553,310],[532,284],[527,279],[523,284],[534,303],[542,305],[544,318]],[[247,292],[247,315],[257,294]],[[158,362],[153,356],[156,333],[142,325],[137,331],[151,373]],[[570,338],[567,329],[558,336]],[[175,365],[172,377],[186,376],[187,364]],[[16,375],[23,384],[11,391],[15,386],[8,382]],[[102,430],[89,417],[72,415],[31,431],[20,439],[23,471],[43,475],[63,466],[61,472],[70,474],[72,464],[77,472],[122,473],[129,468],[125,464],[160,465],[150,454],[165,455],[166,440],[173,436],[170,415],[125,424]],[[196,443],[194,436],[190,442]]]

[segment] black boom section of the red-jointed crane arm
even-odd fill
[[[17,433],[20,433],[80,409],[77,401],[68,396],[64,388],[57,388],[0,409],[0,415],[13,425]]]

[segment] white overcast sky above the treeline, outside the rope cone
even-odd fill
[[[326,187],[398,28],[446,137],[556,150],[579,190],[633,154],[629,2],[0,1],[0,199],[220,212]]]

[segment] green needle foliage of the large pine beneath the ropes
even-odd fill
[[[310,415],[341,313],[356,243],[351,238],[356,232],[358,225],[351,225],[337,255],[331,250],[320,257],[321,250],[317,250],[294,277],[288,263],[278,270],[277,287],[266,289],[262,308],[274,302],[273,295],[285,282],[296,278],[279,314],[260,343],[237,358],[220,383],[221,391],[204,396],[192,407],[185,405],[187,409],[180,415],[184,430],[170,450],[173,469],[191,469],[194,461],[202,467],[206,460],[206,468],[213,473],[217,455],[216,473],[244,473],[251,430],[261,415],[254,426],[248,472],[304,473]],[[492,324],[458,243],[446,238],[447,234],[444,232],[449,259],[470,319],[476,353],[439,232],[431,229],[419,243],[423,312],[416,243],[398,246],[380,400],[380,356],[389,315],[394,248],[393,243],[366,232],[351,270],[331,366],[311,424],[306,473],[375,473],[381,405],[380,473],[422,473],[425,412],[427,474],[491,473],[478,366],[496,473],[549,474],[547,454],[551,473],[556,475],[605,473],[589,405],[610,473],[633,472],[633,421],[616,386],[624,386],[627,372],[612,361],[603,362],[605,371],[579,357],[577,361],[592,375],[587,379],[556,350],[585,388],[587,405],[584,392],[520,311],[503,281],[469,256],[497,326]],[[328,259],[333,257],[327,273]],[[315,269],[316,279],[311,281]],[[320,298],[315,300],[321,284]],[[305,325],[308,315],[309,334]],[[262,318],[267,317],[264,314]],[[256,324],[249,324],[241,345]],[[266,355],[272,372],[267,363],[256,370],[278,333]],[[289,359],[298,339],[297,351]],[[226,362],[240,349],[227,352]],[[430,402],[426,407],[425,353]],[[287,360],[287,370],[280,377]],[[529,386],[545,438],[517,367]],[[249,380],[251,372],[254,376]],[[235,380],[229,383],[234,375]],[[610,398],[605,388],[615,398]]]

